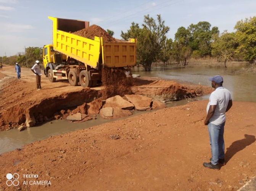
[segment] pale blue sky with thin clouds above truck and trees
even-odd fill
[[[121,38],[121,31],[126,32],[133,21],[142,24],[146,14],[155,19],[161,14],[172,39],[179,27],[200,21],[220,32],[233,32],[237,21],[256,16],[256,0],[0,0],[0,56],[52,43],[48,16],[89,21]]]

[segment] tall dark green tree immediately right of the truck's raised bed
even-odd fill
[[[144,16],[142,28],[134,22],[126,33],[121,32],[125,40],[137,38],[137,64],[141,64],[145,71],[151,70],[151,65],[161,57],[161,50],[166,43],[166,33],[170,30],[165,26],[161,15],[157,15],[157,22],[149,16]]]

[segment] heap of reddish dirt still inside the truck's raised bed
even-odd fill
[[[103,28],[101,28],[98,25],[92,25],[88,28],[84,28],[82,30],[74,32],[73,34],[91,39],[94,39],[94,36],[104,37],[103,40],[106,42],[116,42],[115,38],[109,35],[108,32],[106,32]]]

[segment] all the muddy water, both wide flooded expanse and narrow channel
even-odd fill
[[[224,78],[224,87],[228,88],[232,94],[234,101],[250,101],[256,102],[256,75],[229,75],[230,71],[234,71],[240,67],[173,67],[163,66],[154,67],[152,71],[133,71],[133,74],[140,76],[162,77],[174,79],[178,82],[190,82],[193,84],[211,85],[208,78],[215,75],[221,75]],[[135,68],[137,70],[137,68]],[[202,96],[198,99],[208,99],[209,95]],[[187,101],[173,102],[168,107],[186,104]],[[135,112],[134,115],[140,115],[145,112]],[[132,115],[132,116],[134,116]],[[89,128],[91,126],[110,122],[113,120],[104,120],[98,117],[97,120],[91,120],[84,123],[71,123],[67,120],[55,120],[52,124],[45,123],[41,126],[28,128],[25,131],[19,132],[17,129],[0,132],[0,153],[22,148],[23,145],[32,143],[37,140],[47,139],[50,136],[56,136],[78,129]]]

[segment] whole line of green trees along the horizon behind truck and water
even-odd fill
[[[145,71],[151,70],[154,62],[177,62],[186,65],[190,58],[216,58],[218,62],[231,60],[246,61],[256,64],[256,17],[238,21],[235,32],[219,32],[218,27],[211,27],[206,21],[190,24],[187,28],[179,27],[174,39],[167,38],[170,28],[165,25],[161,15],[157,19],[144,16],[143,24],[132,22],[127,32],[121,32],[121,38],[137,39],[137,65]],[[114,32],[107,29],[110,35]],[[26,52],[19,52],[10,57],[0,57],[2,63],[31,67],[35,60],[42,62],[39,47],[28,47]]]

